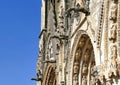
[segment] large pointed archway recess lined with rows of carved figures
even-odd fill
[[[73,61],[73,85],[95,85],[95,57],[91,40],[82,34],[75,49]]]

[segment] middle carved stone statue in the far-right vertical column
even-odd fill
[[[116,26],[116,24],[113,24],[110,29],[109,39],[115,41],[116,35],[117,35],[117,26]]]

